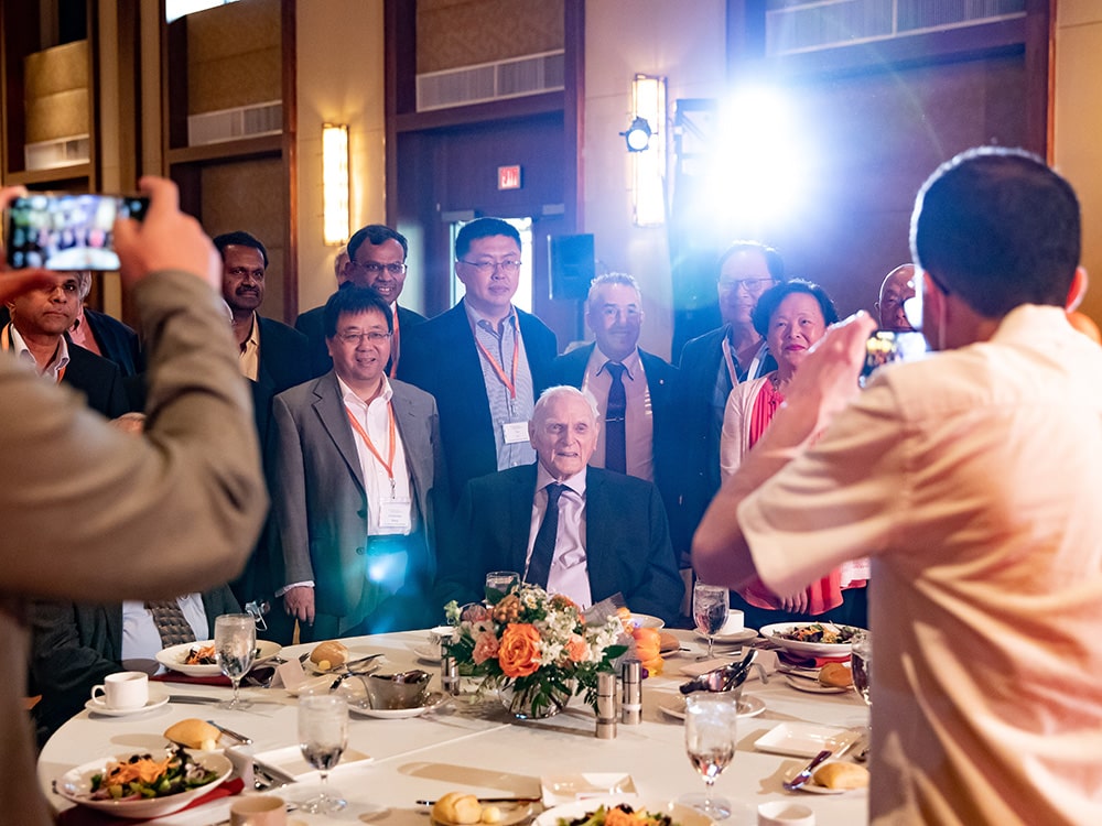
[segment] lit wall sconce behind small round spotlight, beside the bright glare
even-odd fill
[[[636,75],[631,111],[624,140],[631,153],[634,220],[638,227],[660,226],[666,222],[666,78]]]

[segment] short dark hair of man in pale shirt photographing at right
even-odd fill
[[[1079,265],[1074,189],[1023,150],[982,146],[942,164],[910,221],[915,263],[980,315],[1062,307]]]

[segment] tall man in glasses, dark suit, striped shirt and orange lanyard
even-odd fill
[[[500,218],[478,218],[455,238],[463,300],[421,325],[398,377],[432,393],[453,494],[468,479],[536,458],[528,421],[550,383],[559,354],[554,333],[512,305],[520,275],[520,235]]]

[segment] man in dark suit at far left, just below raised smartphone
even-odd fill
[[[51,287],[11,300],[11,323],[0,330],[0,346],[33,365],[41,376],[79,390],[88,406],[108,419],[122,415],[130,407],[119,368],[65,336],[80,308],[76,273],[57,272],[53,280]]]

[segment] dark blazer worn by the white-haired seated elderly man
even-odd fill
[[[489,570],[525,570],[536,465],[472,479],[456,512],[455,544],[441,556],[436,599],[482,599]],[[684,585],[670,545],[666,509],[648,481],[588,468],[585,555],[593,600],[620,593],[628,608],[674,622]]]

